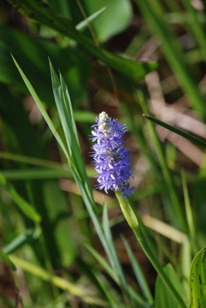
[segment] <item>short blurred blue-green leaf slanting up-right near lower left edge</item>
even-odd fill
[[[7,246],[5,246],[3,251],[7,255],[12,254],[25,244],[37,239],[39,235],[40,230],[34,228],[27,229],[24,234],[15,237]]]

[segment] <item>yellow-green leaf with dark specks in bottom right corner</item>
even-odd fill
[[[206,303],[206,248],[194,257],[190,269],[190,307],[205,307]]]

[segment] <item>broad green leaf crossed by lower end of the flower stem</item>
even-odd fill
[[[179,281],[177,274],[175,273],[171,264],[167,264],[163,268],[164,272],[170,278],[171,283],[175,287],[178,294],[184,299],[182,285]],[[158,276],[155,284],[155,307],[156,308],[179,308],[181,305],[174,300],[174,297],[168,291],[161,278]]]

